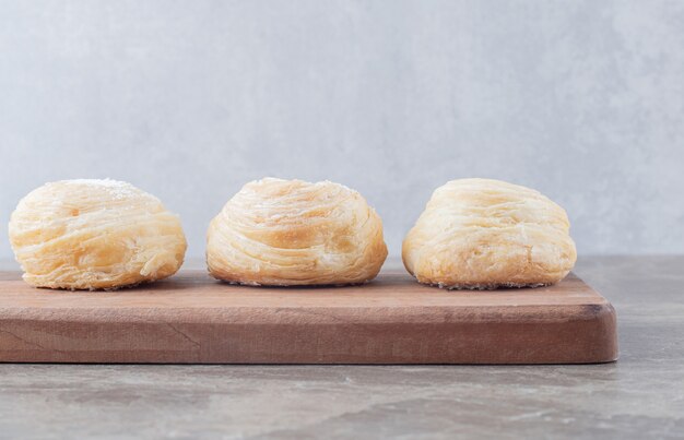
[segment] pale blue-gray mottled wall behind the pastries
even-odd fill
[[[0,153],[2,222],[111,177],[190,257],[262,176],[359,190],[392,254],[468,176],[556,200],[580,253],[682,252],[684,2],[0,0]]]

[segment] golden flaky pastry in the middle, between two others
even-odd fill
[[[364,283],[386,257],[375,210],[358,192],[329,181],[249,182],[207,236],[211,275],[248,285]]]

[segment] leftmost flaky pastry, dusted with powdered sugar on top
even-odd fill
[[[158,199],[116,180],[46,183],[19,202],[10,241],[34,286],[114,289],[173,275],[186,238]]]

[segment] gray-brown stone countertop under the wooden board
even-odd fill
[[[615,364],[4,364],[0,438],[681,438],[684,257],[576,273],[617,310]]]

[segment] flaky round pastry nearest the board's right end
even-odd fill
[[[402,249],[418,282],[447,288],[541,286],[577,253],[565,211],[538,191],[490,179],[437,188]]]

